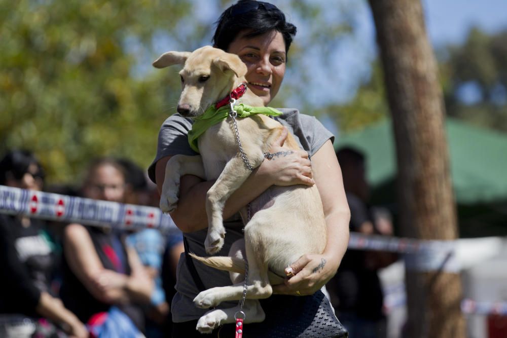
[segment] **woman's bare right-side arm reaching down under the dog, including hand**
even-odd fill
[[[336,274],[347,249],[350,211],[331,140],[312,156],[312,168],[324,208],[328,240],[322,254],[303,255],[294,262],[291,268],[296,276],[286,280],[285,284],[274,286],[275,293],[314,293]]]

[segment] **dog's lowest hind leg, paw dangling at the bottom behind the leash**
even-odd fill
[[[197,322],[197,330],[201,333],[211,333],[213,329],[223,324],[234,323],[235,314],[239,311],[239,306],[229,309],[216,309],[206,312]],[[260,323],[264,321],[266,315],[257,299],[247,299],[243,305],[245,313],[244,323]]]

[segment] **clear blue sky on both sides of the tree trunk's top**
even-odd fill
[[[330,2],[317,1],[322,4]],[[341,2],[347,3],[347,0]],[[327,102],[330,97],[339,104],[350,100],[360,83],[369,79],[370,63],[377,55],[375,28],[368,3],[356,0],[348,3],[349,6],[354,6],[354,36],[345,37],[336,48],[335,59],[338,62],[315,70],[315,78],[329,79],[328,83],[322,83],[321,86],[329,88],[328,91],[317,90],[310,95],[312,103],[317,106]],[[434,49],[463,43],[474,25],[489,33],[507,29],[507,0],[422,0],[422,5],[426,29]],[[315,51],[317,53],[319,51]],[[308,61],[308,66],[311,62]],[[329,74],[333,74],[333,79],[330,79]],[[291,81],[291,74],[288,74],[287,80]],[[308,97],[309,95],[305,99]],[[300,106],[297,97],[293,100],[289,103]]]

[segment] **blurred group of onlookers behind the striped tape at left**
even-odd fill
[[[129,159],[97,158],[75,185],[45,185],[28,151],[0,161],[0,184],[158,207]],[[0,337],[170,336],[170,302],[183,236],[0,214]]]

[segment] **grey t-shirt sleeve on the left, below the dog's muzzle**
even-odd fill
[[[155,165],[161,158],[176,154],[198,155],[190,148],[188,142],[187,134],[191,128],[190,120],[178,115],[172,115],[164,121],[159,131],[157,155],[148,168],[148,176],[154,183],[156,183]]]

